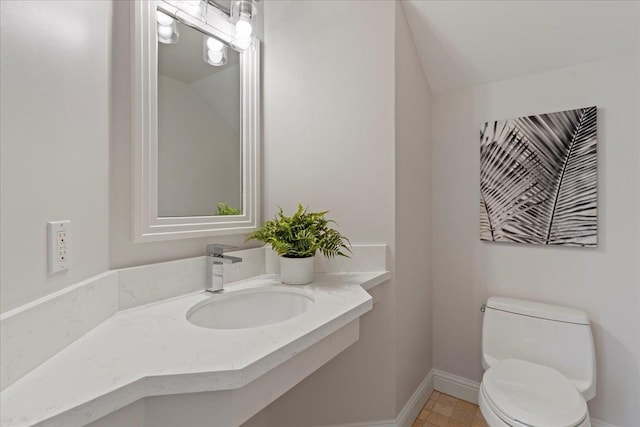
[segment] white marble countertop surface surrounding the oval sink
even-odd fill
[[[295,287],[314,298],[309,311],[251,329],[189,323],[188,309],[212,298],[202,291],[117,312],[3,390],[1,425],[86,424],[147,396],[243,387],[369,311],[364,289],[389,278],[319,274]],[[275,286],[286,287],[262,275],[225,288]]]

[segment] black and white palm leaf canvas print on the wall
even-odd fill
[[[480,129],[480,238],[597,246],[597,108]]]

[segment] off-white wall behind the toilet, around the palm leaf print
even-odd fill
[[[491,295],[585,310],[598,364],[591,415],[640,420],[640,70],[619,56],[433,99],[434,363],[482,375],[480,305]],[[599,247],[479,240],[481,122],[598,106]]]

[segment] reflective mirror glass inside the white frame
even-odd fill
[[[207,58],[208,39],[181,24],[176,43],[158,43],[159,217],[242,214],[239,54],[211,65],[224,61]]]

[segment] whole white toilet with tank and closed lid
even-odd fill
[[[491,427],[590,427],[596,361],[587,315],[574,308],[489,298],[478,404]]]

